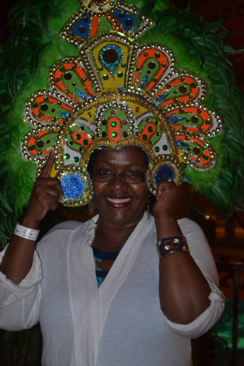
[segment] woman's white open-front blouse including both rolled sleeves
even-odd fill
[[[42,366],[191,365],[190,338],[210,329],[224,310],[203,231],[189,219],[178,221],[212,291],[203,314],[181,325],[161,311],[154,218],[143,216],[99,288],[90,247],[97,220],[50,230],[20,285],[0,273],[0,328],[20,330],[40,321]]]

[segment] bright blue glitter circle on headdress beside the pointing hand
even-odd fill
[[[62,191],[68,199],[81,197],[85,190],[85,183],[77,174],[68,174],[61,181]]]

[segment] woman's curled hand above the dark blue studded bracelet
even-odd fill
[[[174,217],[180,200],[180,189],[173,182],[163,180],[157,188],[157,202],[153,206],[153,215],[156,218]]]

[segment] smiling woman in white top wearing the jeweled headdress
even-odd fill
[[[160,22],[165,4],[153,3]],[[181,182],[202,189],[221,169],[222,117],[205,105],[202,76],[178,67],[143,11],[119,0],[60,0],[45,83],[23,83],[17,103],[22,163],[37,177],[0,253],[0,327],[40,322],[42,366],[190,366],[190,339],[224,309],[203,231],[176,220]],[[36,243],[60,203],[93,203],[98,215],[58,224]]]

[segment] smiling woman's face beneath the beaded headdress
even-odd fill
[[[92,170],[104,169],[121,174],[127,171],[145,172],[147,166],[147,157],[141,148],[126,146],[120,150],[102,149],[93,162]],[[116,225],[139,223],[148,199],[145,179],[141,183],[128,184],[117,175],[110,182],[93,181],[93,190],[100,220]]]

